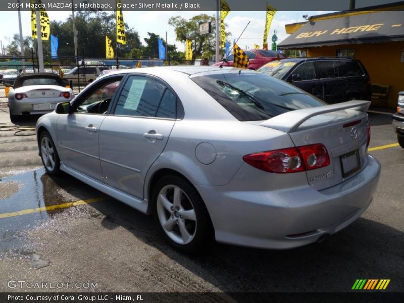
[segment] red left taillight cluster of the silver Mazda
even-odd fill
[[[323,144],[283,148],[249,154],[243,160],[251,166],[271,173],[295,173],[330,164]]]

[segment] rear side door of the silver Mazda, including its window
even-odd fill
[[[163,81],[129,76],[99,132],[104,182],[139,199],[146,173],[163,152],[176,118],[176,94]]]

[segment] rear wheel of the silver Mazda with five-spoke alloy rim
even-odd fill
[[[158,229],[171,246],[190,254],[210,247],[214,231],[208,210],[186,179],[177,175],[160,178],[153,187],[151,203]]]

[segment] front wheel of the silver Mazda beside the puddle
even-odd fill
[[[60,172],[60,159],[58,151],[51,135],[42,131],[39,135],[39,156],[43,167],[49,175],[56,175]]]

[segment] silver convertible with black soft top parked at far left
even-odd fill
[[[51,112],[56,104],[70,101],[73,90],[66,88],[66,81],[55,73],[25,73],[19,75],[9,91],[10,119],[21,115],[37,115]]]

